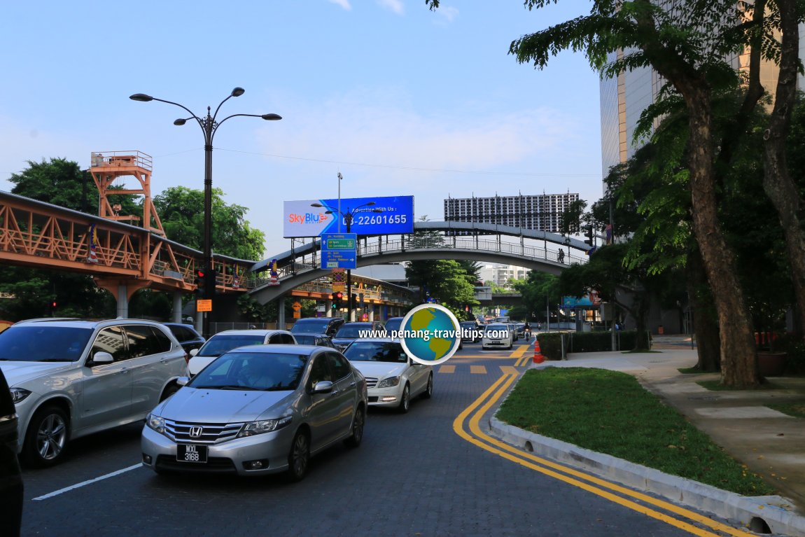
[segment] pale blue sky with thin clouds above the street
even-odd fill
[[[599,79],[583,54],[539,70],[514,39],[587,2],[522,0],[8,2],[0,20],[0,190],[28,161],[93,151],[153,157],[152,196],[204,188],[204,134],[165,103],[231,118],[213,140],[213,187],[248,209],[266,258],[290,249],[283,201],[444,199],[577,192],[601,198]],[[126,186],[134,186],[131,183]],[[214,250],[214,246],[213,246]]]

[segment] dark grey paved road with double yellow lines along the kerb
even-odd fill
[[[24,471],[23,535],[725,535],[486,440],[477,423],[529,353],[465,344],[433,399],[369,411],[360,448],[324,452],[295,484],[157,476],[138,465],[142,424],[76,440],[64,464]]]

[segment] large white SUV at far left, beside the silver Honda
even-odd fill
[[[187,361],[150,320],[34,319],[0,333],[0,369],[19,415],[18,452],[50,466],[68,440],[145,419],[179,389]]]

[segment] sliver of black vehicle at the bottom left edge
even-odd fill
[[[19,535],[23,520],[23,476],[17,461],[17,409],[0,370],[0,523]]]

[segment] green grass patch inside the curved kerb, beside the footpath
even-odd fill
[[[580,367],[530,370],[497,418],[737,494],[775,492],[630,374]]]

